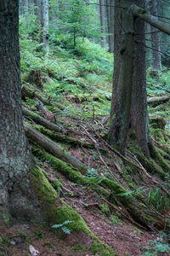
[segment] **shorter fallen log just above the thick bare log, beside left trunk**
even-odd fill
[[[41,116],[37,115],[36,113],[31,112],[30,110],[28,110],[26,108],[22,108],[22,113],[23,113],[23,115],[31,118],[37,124],[43,125],[44,127],[48,128],[48,130],[65,133],[65,129],[64,129],[63,125],[55,125],[54,123],[49,122],[48,120],[42,118]]]

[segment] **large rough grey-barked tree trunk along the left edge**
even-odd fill
[[[33,159],[22,122],[19,1],[0,2],[0,212],[20,219],[38,216],[28,172]],[[8,43],[7,43],[8,42]],[[35,203],[37,203],[35,198]],[[0,215],[2,218],[2,214]]]

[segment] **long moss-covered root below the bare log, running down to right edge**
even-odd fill
[[[120,183],[116,183],[111,181],[106,177],[99,177],[96,181],[94,179],[90,179],[87,177],[83,177],[80,172],[73,169],[66,163],[63,163],[61,160],[56,159],[51,154],[42,152],[41,149],[35,152],[41,159],[48,160],[48,163],[54,167],[54,170],[57,172],[61,172],[65,177],[69,178],[71,182],[81,183],[82,185],[91,184],[91,187],[97,191],[100,195],[99,187],[110,190],[110,196],[108,198],[108,192],[102,193],[107,201],[110,201],[113,206],[118,202],[118,206],[123,207],[127,211],[127,216],[129,218],[133,218],[133,224],[135,222],[139,223],[139,225],[144,226],[147,229],[159,229],[159,230],[168,230],[168,222],[167,219],[161,216],[161,214],[157,214],[156,211],[153,210],[153,207],[148,206],[148,204],[144,200],[141,201],[140,196],[133,196],[132,193],[127,193],[128,190],[124,189]],[[123,209],[122,209],[123,212]]]

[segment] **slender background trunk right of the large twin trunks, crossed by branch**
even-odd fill
[[[150,15],[157,15],[157,0],[150,0]],[[153,55],[153,67],[156,70],[161,70],[161,48],[160,48],[160,38],[159,38],[159,31],[154,27],[150,26],[150,40],[151,40],[151,47],[152,55]]]

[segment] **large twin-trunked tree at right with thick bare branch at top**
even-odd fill
[[[150,137],[145,88],[144,24],[137,18],[150,23],[150,25],[167,34],[170,34],[170,26],[147,15],[143,8],[144,1],[130,1],[130,8],[130,4],[126,4],[126,1],[117,0],[115,3],[117,7],[123,6],[123,9],[120,8],[121,15],[118,15],[118,18],[122,17],[122,20],[119,20],[122,33],[118,35],[121,38],[115,40],[115,44],[120,44],[120,42],[121,44],[115,46],[115,49],[119,49],[119,54],[115,55],[118,60],[116,60],[117,66],[114,75],[116,84],[114,84],[113,89],[109,139],[111,143],[116,143],[124,154],[127,132],[131,121],[139,146],[144,150],[144,154],[149,155]],[[139,3],[140,7],[134,3]],[[127,16],[133,16],[133,18],[130,19]],[[133,38],[132,26],[134,20],[136,26],[135,38]],[[135,58],[133,58],[133,46],[135,46]],[[120,64],[118,64],[119,62]]]

